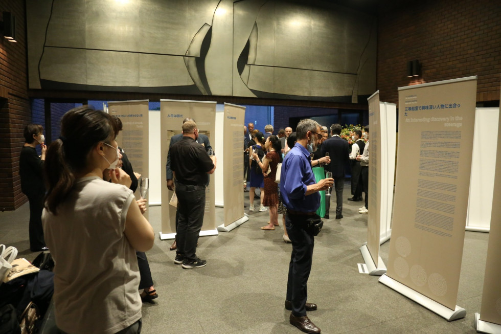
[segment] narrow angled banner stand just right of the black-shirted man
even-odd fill
[[[224,222],[219,231],[230,232],[249,220],[243,210],[243,124],[245,107],[224,103],[223,114],[223,201]],[[219,133],[219,132],[218,132]],[[221,165],[219,165],[221,166]],[[219,182],[219,181],[218,181]]]

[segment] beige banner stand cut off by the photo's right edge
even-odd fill
[[[501,117],[498,117],[498,128]],[[497,137],[497,147],[501,147],[501,138]],[[475,313],[475,328],[483,333],[501,333],[501,154],[497,154],[494,175],[494,196],[492,197],[489,246],[485,263],[484,290],[480,314]]]

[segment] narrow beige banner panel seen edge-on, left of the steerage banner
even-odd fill
[[[376,267],[379,262],[381,226],[381,115],[379,91],[369,98],[369,202],[367,247]]]

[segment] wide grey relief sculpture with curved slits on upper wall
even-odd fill
[[[29,86],[357,102],[375,17],[328,2],[27,0]]]

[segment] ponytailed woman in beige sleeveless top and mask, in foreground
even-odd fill
[[[68,333],[141,331],[140,274],[135,250],[153,246],[154,233],[120,168],[116,123],[101,110],[74,108],[48,151],[42,214],[56,262],[57,327]],[[103,180],[107,172],[112,183]]]

